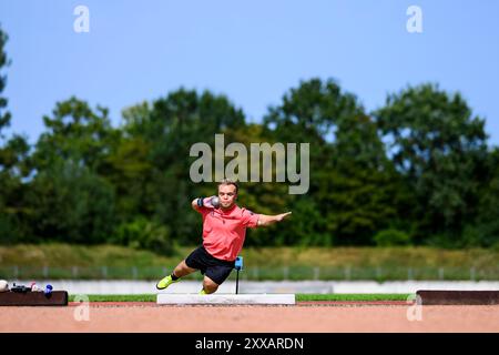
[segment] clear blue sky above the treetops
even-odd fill
[[[90,32],[77,33],[77,6]],[[406,30],[409,6],[422,33]],[[121,110],[180,87],[226,94],[251,121],[301,80],[334,78],[367,110],[387,93],[437,82],[459,91],[499,143],[497,0],[0,0],[11,67],[10,132],[31,142],[55,102]]]

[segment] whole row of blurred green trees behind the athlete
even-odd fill
[[[9,65],[0,29],[0,70]],[[1,72],[0,72],[1,73]],[[309,143],[309,190],[244,183],[240,204],[286,223],[249,231],[246,245],[438,245],[499,243],[499,150],[460,93],[407,87],[367,112],[333,79],[291,88],[259,123],[223,94],[181,88],[109,110],[57,102],[34,144],[8,136],[12,118],[0,75],[0,244],[115,243],[161,253],[201,243],[193,183],[196,142]],[[26,119],[26,118],[24,118]],[[30,118],[31,119],[31,118]]]

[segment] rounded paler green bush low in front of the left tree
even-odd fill
[[[29,202],[38,242],[105,243],[115,232],[113,186],[74,161],[38,172]]]

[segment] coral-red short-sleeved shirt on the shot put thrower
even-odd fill
[[[234,205],[228,211],[198,207],[203,215],[203,246],[214,257],[234,261],[243,248],[246,227],[257,226],[259,215]]]

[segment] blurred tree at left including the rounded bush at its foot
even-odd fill
[[[119,140],[108,110],[94,112],[71,98],[43,118],[47,131],[35,144],[29,192],[31,225],[41,240],[102,243],[115,230],[114,186],[100,175]]]

